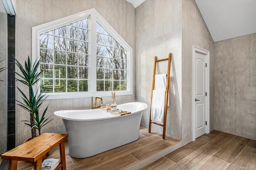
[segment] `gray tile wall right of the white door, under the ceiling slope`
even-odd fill
[[[256,33],[214,45],[215,129],[256,140]]]

